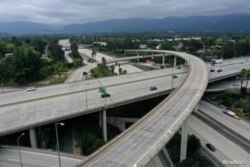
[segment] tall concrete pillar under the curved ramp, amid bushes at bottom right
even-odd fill
[[[184,121],[181,127],[181,155],[180,155],[180,161],[186,159],[187,154],[187,139],[188,139],[188,133],[187,133],[187,120]]]

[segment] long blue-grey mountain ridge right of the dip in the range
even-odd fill
[[[72,24],[62,29],[65,33],[117,32],[250,32],[250,15],[167,17],[164,19],[107,20],[87,24]]]

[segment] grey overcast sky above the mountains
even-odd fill
[[[250,0],[0,0],[0,22],[86,23],[120,18],[250,13]]]

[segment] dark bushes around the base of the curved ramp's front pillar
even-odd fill
[[[194,135],[188,137],[187,158],[180,162],[181,135],[176,133],[167,144],[167,150],[176,167],[214,167],[215,165],[200,152],[200,141]]]

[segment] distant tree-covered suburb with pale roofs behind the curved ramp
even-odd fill
[[[204,60],[214,58],[232,58],[250,55],[250,36],[231,34],[123,34],[123,35],[93,35],[79,39],[81,43],[91,44],[103,41],[107,46],[95,45],[101,52],[124,55],[125,49],[139,49],[146,44],[150,49],[178,50],[195,54]]]

